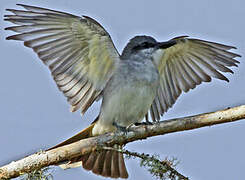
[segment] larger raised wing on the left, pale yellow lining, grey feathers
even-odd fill
[[[59,11],[18,4],[25,10],[7,9],[8,27],[18,34],[7,39],[24,41],[46,64],[71,104],[84,113],[110,79],[119,54],[109,34],[95,20]]]

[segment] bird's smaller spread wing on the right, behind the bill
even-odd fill
[[[221,72],[233,73],[228,67],[237,66],[238,54],[229,52],[235,47],[199,39],[177,37],[176,44],[164,49],[154,58],[160,73],[160,87],[150,113],[153,121],[172,107],[182,91],[188,92],[211,78],[228,79]]]

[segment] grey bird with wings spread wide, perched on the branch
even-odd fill
[[[152,122],[173,106],[182,92],[213,78],[229,82],[223,73],[238,66],[234,46],[179,36],[158,42],[137,35],[120,54],[109,33],[96,20],[56,10],[17,4],[24,10],[6,9],[7,27],[16,34],[7,40],[23,41],[48,66],[71,111],[86,113],[102,100],[91,125],[50,149],[128,126]],[[122,153],[91,152],[71,160],[95,174],[128,178]]]

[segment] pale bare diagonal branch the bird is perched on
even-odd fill
[[[87,154],[103,146],[127,144],[147,137],[233,122],[245,118],[245,105],[190,117],[131,127],[128,133],[115,132],[91,137],[49,151],[39,152],[0,167],[0,179],[9,179],[49,165]]]

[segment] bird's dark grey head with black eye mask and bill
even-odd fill
[[[152,59],[158,49],[165,49],[174,44],[175,42],[171,42],[166,46],[166,42],[157,42],[151,36],[135,36],[130,39],[129,43],[124,48],[121,58],[129,59],[136,57],[139,59]]]

